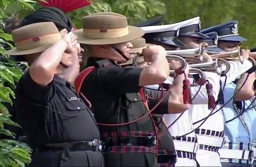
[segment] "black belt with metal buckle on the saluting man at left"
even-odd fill
[[[82,142],[69,142],[69,143],[53,143],[47,144],[36,148],[36,152],[44,151],[63,151],[64,148],[68,148],[69,151],[101,151],[103,142],[99,139],[94,139],[92,141],[82,141]]]

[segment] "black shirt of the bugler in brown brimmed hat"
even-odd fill
[[[107,63],[106,63],[107,62]],[[99,123],[119,124],[134,121],[148,111],[139,94],[139,78],[143,69],[131,66],[121,68],[113,61],[89,58],[87,66],[96,69],[85,78],[81,92],[92,103],[95,118]],[[104,132],[154,131],[152,119],[147,115],[142,120],[125,126],[99,126]]]

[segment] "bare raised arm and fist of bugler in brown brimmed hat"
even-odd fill
[[[170,73],[165,49],[162,46],[148,46],[142,53],[145,61],[152,63],[141,72],[139,86],[163,83]]]

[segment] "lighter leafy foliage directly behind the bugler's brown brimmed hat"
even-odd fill
[[[154,7],[152,7],[154,6]],[[68,16],[76,28],[82,28],[82,18],[95,12],[116,12],[125,15],[129,24],[166,13],[165,4],[158,0],[94,0],[91,6],[78,9]]]

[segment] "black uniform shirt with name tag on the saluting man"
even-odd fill
[[[32,148],[99,138],[92,112],[64,79],[55,75],[53,81],[43,87],[34,82],[27,71],[15,95],[17,119]]]

